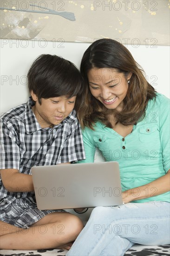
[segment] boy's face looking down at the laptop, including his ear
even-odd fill
[[[35,101],[33,113],[42,128],[52,127],[62,122],[72,112],[76,100],[76,96],[70,99],[66,96],[41,98],[40,105],[36,94],[31,92],[31,95]]]

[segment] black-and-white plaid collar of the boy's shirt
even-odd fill
[[[35,105],[34,101],[31,97],[29,97],[28,101],[26,102],[25,106],[25,120],[26,120],[26,132],[27,134],[32,134],[35,131],[46,129],[49,130],[51,128],[41,128],[37,118],[35,117],[32,107]],[[77,119],[76,111],[73,109],[70,115],[68,115],[65,120],[63,120],[59,125],[64,125],[65,123],[72,124],[73,121]],[[59,125],[55,125],[52,129],[58,128]]]

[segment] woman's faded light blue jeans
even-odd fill
[[[96,207],[66,256],[122,256],[135,243],[170,243],[170,203]]]

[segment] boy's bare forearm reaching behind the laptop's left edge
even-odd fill
[[[34,191],[32,175],[19,173],[17,169],[1,169],[0,175],[4,187],[9,192]]]

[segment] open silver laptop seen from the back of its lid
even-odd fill
[[[31,171],[40,210],[123,204],[118,162],[34,166]]]

